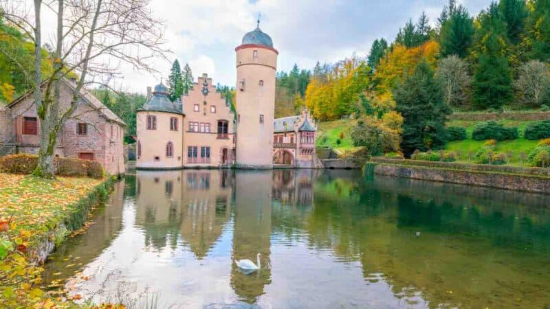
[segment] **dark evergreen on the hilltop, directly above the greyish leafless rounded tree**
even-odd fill
[[[439,17],[439,28],[441,56],[465,58],[474,36],[474,20],[466,8],[462,5],[457,7],[454,0],[449,1]]]

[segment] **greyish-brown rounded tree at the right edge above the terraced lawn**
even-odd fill
[[[546,63],[531,60],[519,69],[515,83],[520,100],[531,107],[539,107],[550,100],[550,71]]]

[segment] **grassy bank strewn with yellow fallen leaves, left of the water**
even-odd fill
[[[50,308],[58,301],[41,286],[43,260],[105,201],[114,179],[54,181],[0,173],[0,307]]]

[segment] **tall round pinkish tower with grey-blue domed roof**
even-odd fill
[[[270,36],[260,30],[259,23],[235,48],[237,168],[273,168],[278,52]]]

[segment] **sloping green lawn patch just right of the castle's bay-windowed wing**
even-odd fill
[[[336,150],[346,152],[353,150],[353,139],[351,139],[351,128],[357,121],[353,119],[341,119],[332,122],[321,122],[318,127],[316,146],[332,146]],[[340,139],[340,145],[336,142],[340,138],[340,133],[344,138]]]

